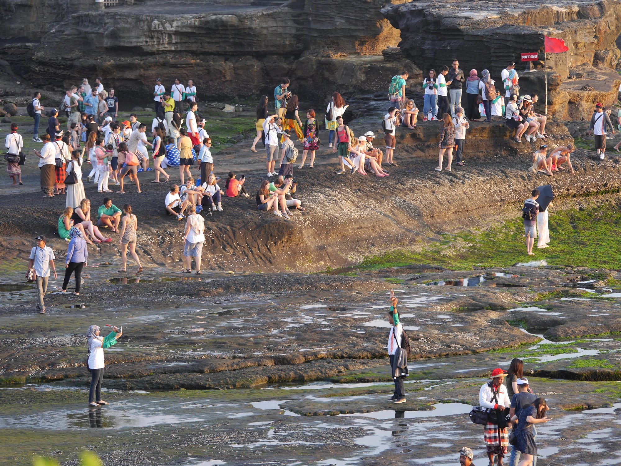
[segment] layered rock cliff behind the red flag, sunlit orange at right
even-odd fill
[[[414,0],[386,6],[382,13],[401,30],[399,46],[406,57],[425,73],[429,68],[450,66],[451,60],[458,58],[466,73],[471,68],[479,73],[487,68],[500,83],[502,68],[516,62],[522,93],[527,89],[542,95],[543,61],[533,63],[540,73],[525,73],[530,66],[520,63],[520,53],[539,52],[543,58],[543,37],[548,35],[564,39],[569,48],[564,53],[548,53],[548,77],[556,73],[548,79],[551,114],[583,119],[590,117],[596,95],[606,104],[617,99],[621,80],[610,68],[617,66],[621,55],[615,45],[621,32],[620,2]],[[576,73],[589,82],[576,88],[577,82],[567,81]],[[600,82],[594,85],[596,81]],[[581,94],[588,92],[582,88],[596,92]]]

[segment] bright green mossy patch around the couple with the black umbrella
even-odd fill
[[[486,231],[443,234],[442,242],[433,242],[421,250],[399,249],[368,256],[359,267],[377,270],[412,263],[433,263],[451,270],[471,270],[474,266],[510,267],[518,262],[545,259],[548,264],[556,266],[619,268],[619,206],[606,204],[594,209],[553,211],[549,226],[552,247],[535,249],[535,256],[526,255],[522,219],[516,216]],[[444,244],[447,236],[450,240]],[[597,299],[593,293],[584,296]]]

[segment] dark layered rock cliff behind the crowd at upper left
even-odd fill
[[[48,0],[53,1],[64,0]],[[101,75],[106,86],[141,98],[148,98],[158,77],[166,87],[176,77],[192,79],[202,99],[260,95],[282,76],[297,81],[294,91],[302,97],[332,93],[338,81],[346,83],[346,90],[360,91],[375,85],[358,71],[369,63],[342,58],[381,56],[383,48],[396,45],[399,31],[379,12],[384,4],[143,2],[104,11],[92,4],[58,19],[52,32],[37,36],[39,44],[13,40],[2,51],[14,70],[41,84],[41,76],[68,85],[82,76]],[[32,7],[30,17],[37,14]],[[27,17],[24,11],[14,16],[16,23]],[[14,29],[10,34],[21,37],[19,27]],[[371,74],[381,78],[384,88],[398,68],[382,64]]]

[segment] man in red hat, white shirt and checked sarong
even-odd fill
[[[492,423],[488,418],[483,431],[483,442],[487,449],[489,464],[494,464],[494,455],[497,455],[498,466],[502,466],[502,459],[509,447],[505,409],[511,406],[511,400],[507,394],[507,387],[502,383],[507,375],[501,368],[494,369],[489,377],[491,381],[484,383],[479,390],[479,404],[498,419],[496,423]]]

